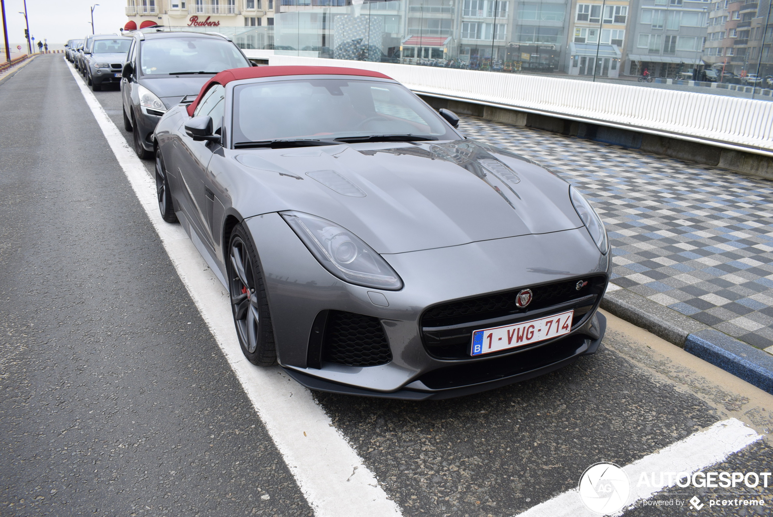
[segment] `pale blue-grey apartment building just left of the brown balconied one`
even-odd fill
[[[652,77],[700,79],[710,4],[700,0],[638,0],[625,71]],[[714,40],[712,40],[714,41]]]

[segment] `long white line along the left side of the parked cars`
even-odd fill
[[[180,225],[165,223],[158,211],[155,179],[148,175],[121,131],[107,116],[73,66],[70,72],[97,119],[107,144],[158,232],[177,274],[236,373],[244,391],[295,476],[317,517],[398,517],[376,476],[349,446],[346,437],[311,393],[279,368],[250,364],[239,347],[228,293],[199,255]],[[272,496],[274,494],[271,494]]]

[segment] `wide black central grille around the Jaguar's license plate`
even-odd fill
[[[578,281],[587,281],[587,284],[577,289]],[[575,328],[584,323],[601,300],[606,284],[606,277],[597,275],[529,286],[533,299],[526,308],[516,305],[516,295],[523,287],[435,305],[421,317],[422,341],[427,352],[438,359],[469,359],[472,332],[479,328],[509,325],[569,310],[574,310],[572,328]],[[508,352],[511,351],[499,353]]]

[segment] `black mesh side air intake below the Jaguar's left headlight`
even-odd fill
[[[377,366],[392,360],[381,321],[353,312],[329,312],[322,350],[325,361],[339,365]]]

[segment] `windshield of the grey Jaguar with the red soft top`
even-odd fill
[[[413,134],[458,135],[405,87],[372,80],[317,79],[234,88],[234,142]]]

